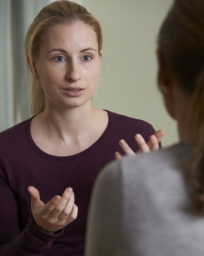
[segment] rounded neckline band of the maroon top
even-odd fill
[[[90,151],[92,151],[98,143],[100,143],[107,135],[107,133],[109,132],[110,128],[111,128],[111,124],[112,124],[112,113],[108,110],[104,110],[106,112],[108,112],[108,125],[106,127],[106,130],[104,131],[103,134],[101,134],[101,136],[91,145],[89,146],[88,148],[86,148],[86,150],[78,153],[78,154],[75,154],[75,155],[71,155],[71,156],[54,156],[54,155],[50,155],[44,151],[42,151],[37,145],[36,143],[34,142],[32,136],[31,136],[31,121],[32,119],[35,117],[31,117],[30,119],[28,119],[28,124],[26,126],[26,135],[27,135],[27,139],[29,141],[29,144],[33,147],[33,149],[38,153],[40,154],[41,156],[45,157],[45,158],[48,158],[48,159],[52,159],[52,160],[61,160],[61,161],[64,161],[64,160],[71,160],[71,159],[75,159],[75,158],[79,158],[79,157],[82,157],[84,155],[86,155],[87,153],[89,153]]]

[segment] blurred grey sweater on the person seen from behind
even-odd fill
[[[191,152],[182,142],[107,165],[93,189],[85,255],[204,255],[204,216],[185,178]]]

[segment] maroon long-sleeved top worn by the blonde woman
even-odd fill
[[[125,139],[137,152],[134,135],[148,137],[153,127],[142,120],[109,112],[106,131],[87,150],[67,157],[52,156],[34,143],[32,118],[0,133],[0,255],[4,256],[82,256],[88,204],[93,182],[99,170],[123,153],[118,144]],[[78,218],[64,229],[49,234],[40,229],[31,215],[28,186],[40,191],[46,203],[72,187]]]

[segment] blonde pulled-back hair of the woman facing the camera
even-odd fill
[[[73,24],[84,22],[90,25],[96,33],[98,54],[103,46],[103,34],[98,20],[87,9],[77,3],[56,1],[45,6],[29,27],[24,42],[24,53],[27,62],[27,73],[30,85],[31,114],[38,115],[46,108],[44,91],[40,80],[35,79],[31,70],[34,70],[33,59],[38,57],[40,38],[43,30],[57,24]]]

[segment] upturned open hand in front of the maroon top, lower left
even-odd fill
[[[40,200],[38,189],[29,186],[28,190],[33,218],[43,230],[54,233],[77,219],[78,207],[74,204],[72,188],[66,188],[61,197],[55,196],[46,204]]]

